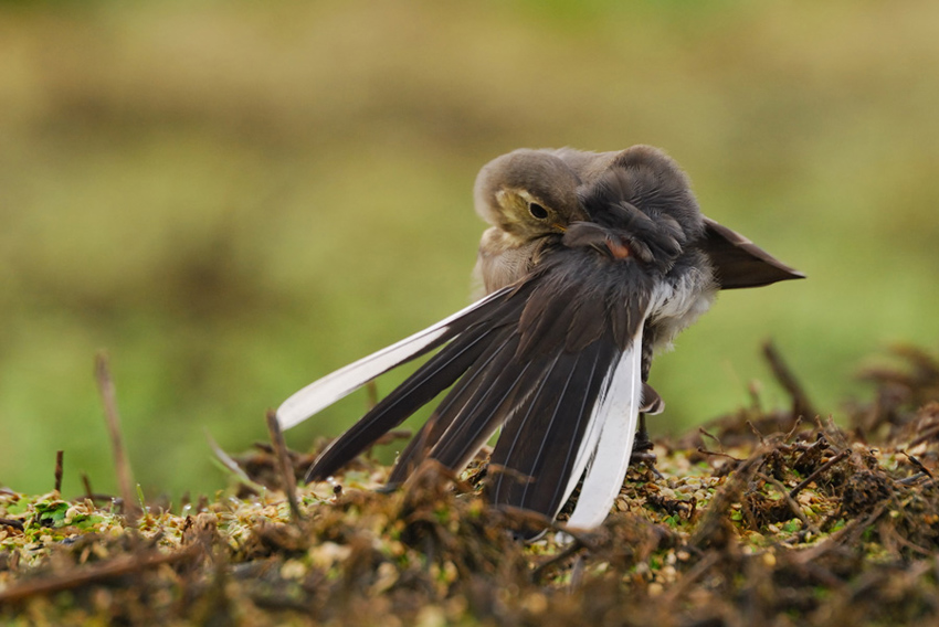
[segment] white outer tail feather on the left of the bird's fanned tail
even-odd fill
[[[288,429],[304,422],[380,374],[446,343],[473,322],[473,315],[478,315],[479,308],[505,296],[509,289],[493,293],[436,325],[303,387],[277,407],[277,421],[281,423],[281,428]]]

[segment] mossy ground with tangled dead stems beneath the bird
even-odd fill
[[[789,411],[752,406],[656,448],[618,511],[523,544],[484,504],[484,460],[424,466],[394,493],[369,459],[278,488],[312,456],[257,445],[231,490],[151,503],[0,489],[0,621],[163,625],[897,625],[939,616],[939,362],[898,348],[848,425],[778,354]],[[221,453],[221,451],[219,451]],[[281,455],[278,455],[281,453]],[[221,454],[225,458],[224,454]],[[232,464],[230,458],[225,459]],[[283,461],[286,461],[284,464]],[[180,508],[177,508],[179,510]],[[535,521],[538,522],[538,521]],[[544,521],[541,521],[544,522]],[[560,522],[556,530],[563,528]]]

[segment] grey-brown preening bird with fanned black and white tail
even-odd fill
[[[484,232],[468,307],[288,397],[289,428],[377,376],[436,351],[333,440],[307,480],[324,480],[450,389],[401,451],[389,486],[424,460],[462,470],[498,431],[484,487],[495,507],[603,522],[625,478],[641,416],[663,402],[652,357],[718,290],[804,275],[701,214],[664,151],[519,149],[481,170]],[[642,423],[642,425],[641,425]]]

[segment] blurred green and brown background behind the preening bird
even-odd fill
[[[724,294],[660,358],[680,431],[816,404],[939,338],[939,3],[0,3],[0,485],[65,449],[114,490],[112,359],[145,492],[225,485],[228,450],[313,379],[467,302],[479,167],[517,147],[660,146],[704,211],[809,274]],[[394,383],[381,380],[387,392]],[[363,393],[288,432],[335,435]]]

